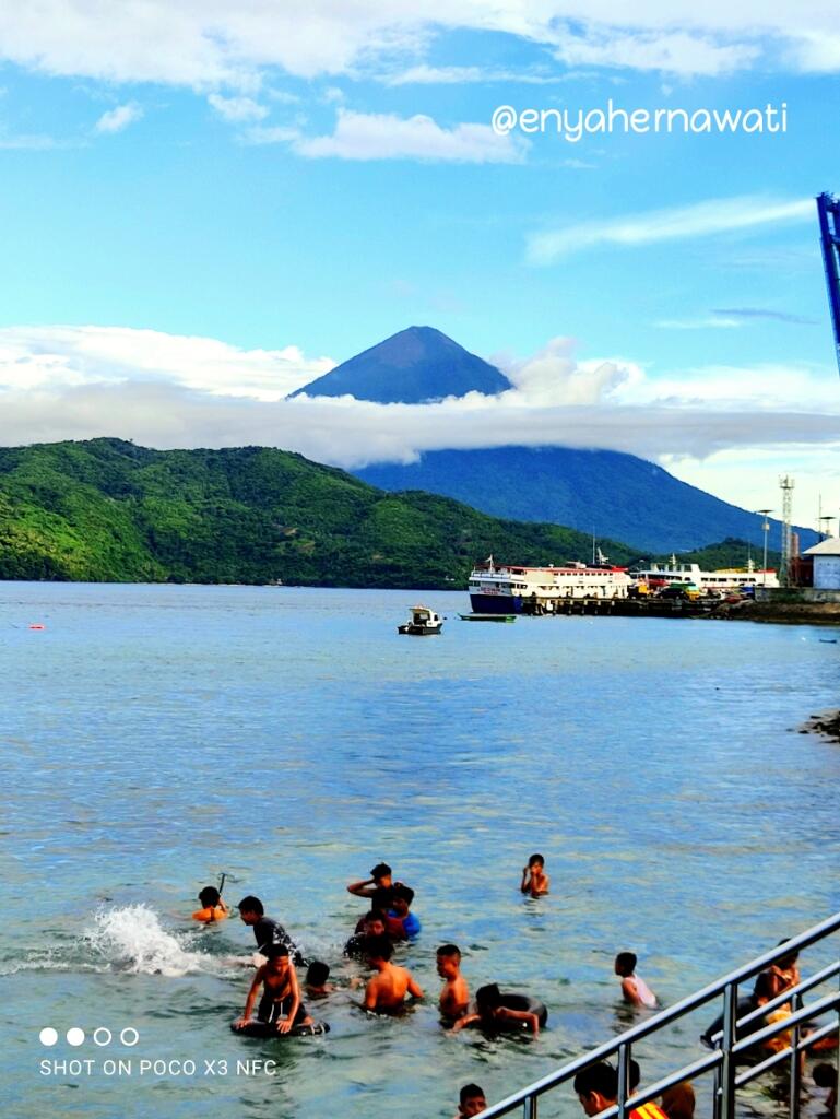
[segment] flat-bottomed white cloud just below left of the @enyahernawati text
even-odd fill
[[[293,149],[308,159],[419,159],[455,163],[519,163],[527,142],[497,135],[489,124],[442,128],[431,116],[357,113],[339,107],[331,135],[298,135]]]

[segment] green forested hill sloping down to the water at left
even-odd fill
[[[639,555],[602,546],[619,563]],[[563,563],[592,540],[268,448],[0,448],[0,579],[446,587],[490,553]]]

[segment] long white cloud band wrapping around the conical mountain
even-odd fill
[[[294,346],[242,350],[129,328],[6,329],[0,443],[100,435],[162,449],[258,443],[340,467],[509,444],[594,446],[653,460],[777,448],[814,462],[840,446],[836,377],[825,370],[721,366],[653,378],[622,358],[581,361],[566,339],[495,364],[515,385],[497,397],[473,393],[426,405],[284,399],[334,363]]]

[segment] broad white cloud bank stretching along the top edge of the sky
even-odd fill
[[[755,66],[837,72],[830,0],[101,0],[0,6],[0,58],[44,74],[253,91],[266,69],[379,74],[424,60],[435,35],[494,31],[565,63],[716,75]]]

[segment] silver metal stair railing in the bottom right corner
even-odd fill
[[[630,1112],[634,1108],[648,1103],[654,1097],[661,1096],[667,1089],[673,1088],[685,1080],[692,1080],[708,1072],[715,1074],[714,1119],[734,1119],[737,1090],[783,1061],[786,1061],[790,1066],[789,1116],[790,1119],[797,1119],[802,1061],[800,1054],[803,1054],[822,1038],[837,1034],[840,1029],[840,990],[824,995],[815,1002],[809,1003],[808,1006],[803,1005],[802,996],[833,978],[840,979],[840,959],[834,959],[827,967],[802,979],[795,987],[791,987],[764,1005],[751,1009],[742,1017],[738,1017],[738,986],[753,979],[776,960],[785,959],[793,952],[809,948],[838,930],[840,930],[840,913],[813,925],[797,937],[792,937],[744,967],[730,971],[723,979],[709,984],[708,987],[689,995],[646,1022],[625,1031],[613,1041],[589,1050],[556,1072],[549,1073],[541,1080],[515,1092],[513,1096],[507,1097],[499,1103],[492,1103],[481,1112],[482,1119],[495,1119],[497,1116],[507,1116],[517,1110],[520,1110],[523,1119],[537,1119],[537,1108],[542,1096],[574,1080],[578,1072],[591,1064],[607,1061],[611,1057],[617,1057],[619,1096],[615,1104],[602,1111],[597,1119],[614,1119],[614,1117],[629,1119]],[[655,1083],[649,1084],[644,1090],[631,1093],[630,1072],[633,1045],[716,997],[723,997],[724,1013],[721,1028],[707,1038],[709,1044],[715,1046],[714,1051]],[[761,1028],[754,1027],[753,1032],[746,1032],[745,1035],[745,1026],[764,1019],[767,1014],[785,1004],[790,1004],[791,1014],[789,1016]],[[806,1022],[831,1010],[837,1013],[837,1017],[827,1025],[821,1025],[808,1034],[802,1032],[802,1026]],[[754,1063],[757,1047],[774,1037],[787,1034],[790,1034],[790,1040],[786,1045],[778,1052],[759,1060],[758,1063]],[[753,1063],[739,1072],[737,1066],[744,1063],[747,1051],[749,1051],[749,1059]]]

